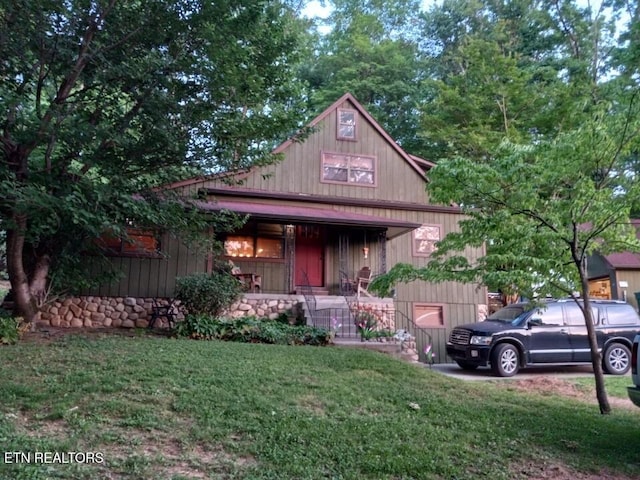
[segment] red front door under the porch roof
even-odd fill
[[[322,229],[313,225],[296,227],[296,285],[324,286],[324,241]]]

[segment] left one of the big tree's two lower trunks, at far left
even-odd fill
[[[15,226],[7,231],[7,272],[11,282],[13,301],[15,303],[14,315],[24,318],[35,328],[38,304],[31,293],[29,277],[24,269],[24,243],[27,228],[26,215],[15,215]]]

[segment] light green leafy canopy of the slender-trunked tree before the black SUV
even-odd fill
[[[629,212],[640,198],[634,175],[620,166],[638,148],[637,99],[628,109],[602,104],[580,127],[519,145],[505,140],[485,162],[442,160],[430,172],[435,202],[461,206],[459,231],[437,244],[424,268],[397,265],[372,285],[462,280],[511,288],[524,296],[581,290],[595,250],[638,250]],[[486,248],[475,263],[469,248]],[[467,253],[467,254],[466,254]]]

